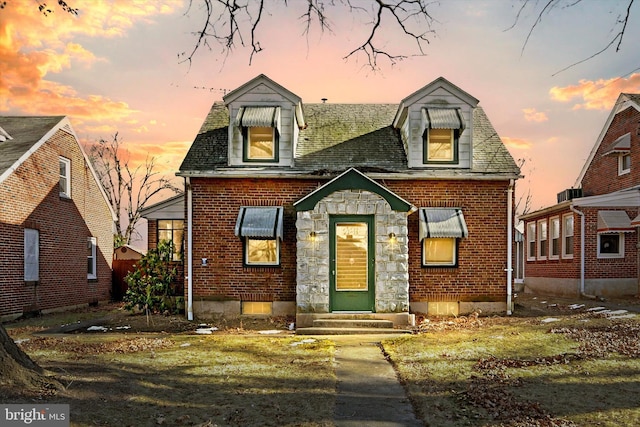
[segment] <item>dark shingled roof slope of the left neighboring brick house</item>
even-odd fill
[[[51,131],[63,116],[0,116],[0,177]],[[6,135],[9,137],[7,138]]]

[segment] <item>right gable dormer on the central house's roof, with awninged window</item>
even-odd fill
[[[472,167],[478,100],[443,77],[402,100],[393,121],[409,168]]]

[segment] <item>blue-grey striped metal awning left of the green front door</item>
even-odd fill
[[[282,206],[242,206],[236,220],[236,236],[282,240],[283,213]]]

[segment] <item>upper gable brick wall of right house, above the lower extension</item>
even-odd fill
[[[613,118],[582,179],[582,190],[585,196],[607,194],[640,184],[639,122],[640,112],[635,108],[627,108]],[[611,150],[616,139],[626,133],[631,133],[631,171],[618,175],[618,155],[604,154]]]

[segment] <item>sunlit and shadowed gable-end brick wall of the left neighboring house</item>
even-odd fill
[[[71,161],[71,199],[59,196],[59,156]],[[75,138],[58,131],[0,183],[0,317],[108,300],[113,220]],[[40,280],[25,284],[24,229],[40,232]],[[87,280],[96,237],[97,279]]]

